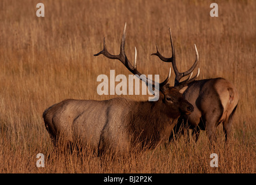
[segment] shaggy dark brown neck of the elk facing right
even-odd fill
[[[170,115],[163,103],[163,98],[155,102],[138,102],[131,112],[130,134],[134,140],[144,144],[157,145],[169,138],[170,132],[179,116]]]

